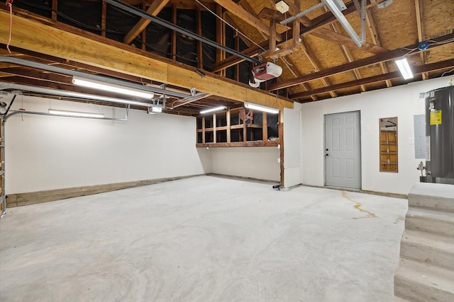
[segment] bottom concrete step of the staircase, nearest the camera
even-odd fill
[[[454,272],[401,258],[394,295],[409,301],[454,301]]]

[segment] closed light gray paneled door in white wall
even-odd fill
[[[325,115],[325,182],[361,188],[360,112]]]

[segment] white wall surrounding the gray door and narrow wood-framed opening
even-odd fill
[[[424,100],[419,93],[448,85],[448,78],[409,83],[403,86],[370,91],[301,105],[301,182],[324,185],[323,115],[360,110],[362,149],[362,190],[408,194],[419,182],[416,166],[421,159],[414,157],[413,116],[424,113]],[[399,172],[380,172],[380,117],[398,118]],[[368,128],[368,130],[366,130]]]

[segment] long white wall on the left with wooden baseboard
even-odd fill
[[[3,98],[9,102],[12,96]],[[124,117],[124,109],[18,96],[13,110],[49,107]],[[211,172],[194,117],[130,110],[127,122],[15,115],[6,122],[6,194]]]

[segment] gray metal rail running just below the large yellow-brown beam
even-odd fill
[[[168,91],[168,90],[162,89],[162,88],[155,88],[155,87],[150,87],[150,86],[146,86],[146,85],[142,85],[142,84],[138,84],[138,83],[131,83],[131,82],[121,81],[121,80],[117,80],[117,79],[106,78],[105,76],[96,76],[95,74],[85,74],[84,72],[80,72],[80,71],[64,69],[61,67],[38,63],[38,62],[31,62],[31,61],[27,61],[25,59],[18,59],[15,57],[0,56],[0,62],[18,64],[18,65],[28,66],[28,67],[32,67],[32,68],[36,68],[36,69],[43,69],[46,71],[55,72],[57,74],[66,74],[67,76],[80,76],[85,79],[90,79],[90,80],[94,80],[94,81],[102,81],[104,83],[111,83],[114,85],[125,86],[128,88],[135,88],[135,89],[140,89],[143,91],[150,91],[150,92],[162,94],[162,95],[172,95],[177,98],[192,98],[191,93],[180,93],[177,91],[170,91],[170,90]],[[133,105],[133,104],[131,104],[131,105]]]

